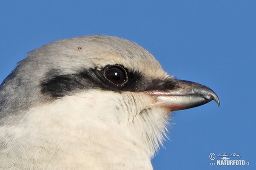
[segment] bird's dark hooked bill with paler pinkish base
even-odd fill
[[[218,106],[220,101],[218,96],[210,88],[184,80],[175,79],[175,86],[168,86],[164,90],[147,91],[151,96],[157,99],[153,106],[160,106],[170,108],[171,111],[178,111],[188,108],[194,108],[204,105],[211,100],[217,102]]]

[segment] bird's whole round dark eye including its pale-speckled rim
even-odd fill
[[[125,69],[119,65],[114,65],[106,68],[104,76],[106,79],[108,79],[108,81],[116,85],[122,85],[128,80]]]

